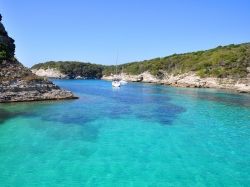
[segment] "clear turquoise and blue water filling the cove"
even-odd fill
[[[0,104],[1,186],[249,186],[250,95],[53,81],[80,99]]]

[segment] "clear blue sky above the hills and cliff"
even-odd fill
[[[249,0],[0,0],[2,23],[27,67],[112,65],[250,42]]]

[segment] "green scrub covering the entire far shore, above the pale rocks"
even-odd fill
[[[118,74],[122,71],[127,74],[140,74],[149,71],[161,78],[164,73],[173,75],[194,71],[200,77],[232,77],[243,78],[250,67],[250,43],[239,45],[218,46],[214,49],[173,54],[162,58],[131,62],[119,65]],[[72,77],[100,78],[103,75],[115,74],[115,66],[103,66],[83,62],[46,62],[32,67],[32,69],[57,68],[62,73]]]

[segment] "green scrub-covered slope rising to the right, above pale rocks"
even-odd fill
[[[127,74],[141,74],[149,71],[158,77],[168,74],[184,74],[196,72],[200,77],[216,78],[244,78],[247,76],[247,67],[250,67],[250,43],[218,46],[205,51],[173,54],[162,58],[131,62],[118,66],[118,72]],[[107,66],[104,75],[114,72],[114,67]]]

